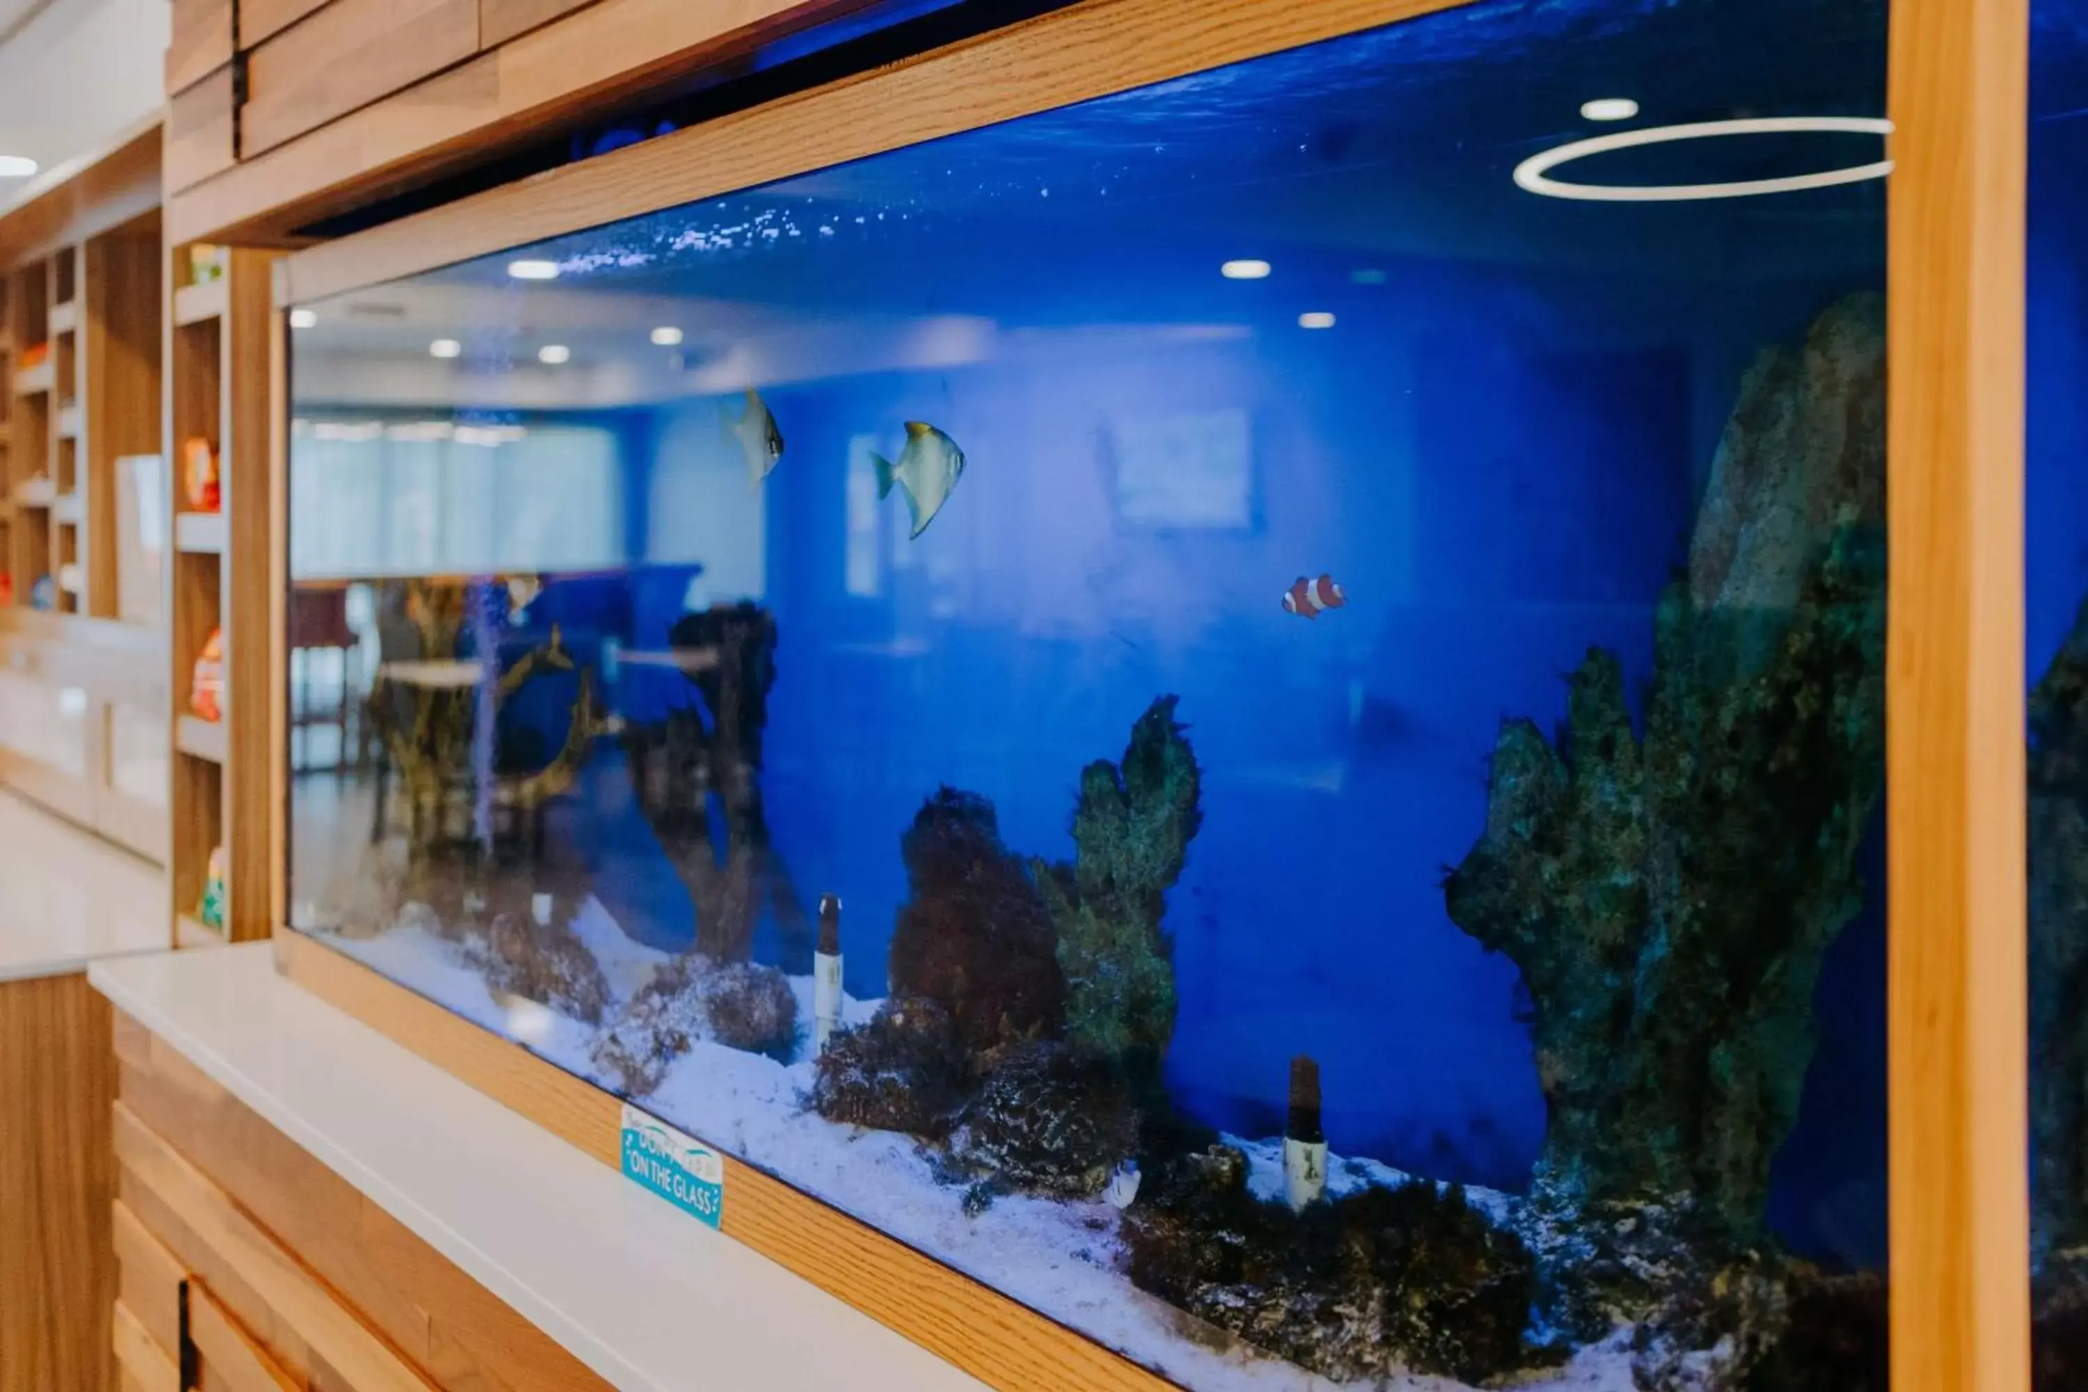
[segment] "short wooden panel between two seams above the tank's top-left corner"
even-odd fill
[[[251,159],[478,52],[478,0],[332,0],[246,54]]]

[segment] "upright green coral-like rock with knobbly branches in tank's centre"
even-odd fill
[[[1201,776],[1173,718],[1153,701],[1123,751],[1079,776],[1071,866],[1034,864],[1059,933],[1065,1037],[1088,1054],[1144,1058],[1157,1073],[1173,1037],[1173,962],[1161,918],[1194,839]]]

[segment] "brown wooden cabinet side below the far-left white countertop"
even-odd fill
[[[0,985],[0,1392],[113,1375],[109,1014],[84,975]]]

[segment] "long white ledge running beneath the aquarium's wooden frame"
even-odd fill
[[[616,1388],[983,1386],[290,985],[267,943],[88,979]]]

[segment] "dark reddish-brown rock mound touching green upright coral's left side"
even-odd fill
[[[892,993],[942,1006],[967,1050],[1057,1035],[1065,1018],[1052,920],[1000,841],[994,803],[940,789],[900,837],[912,893],[892,931]]]

